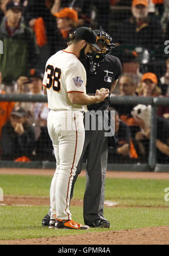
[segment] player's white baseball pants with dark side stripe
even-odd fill
[[[80,111],[50,110],[48,133],[56,158],[56,171],[51,182],[51,219],[70,220],[70,191],[84,144],[83,113]]]

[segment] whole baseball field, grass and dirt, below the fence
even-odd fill
[[[169,173],[108,171],[104,216],[110,221],[110,229],[88,231],[42,227],[53,173],[0,169],[0,245],[169,244]],[[70,203],[73,219],[80,223],[85,181],[83,171]]]

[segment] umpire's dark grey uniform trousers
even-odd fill
[[[95,130],[85,131],[85,140],[81,159],[73,178],[70,197],[73,197],[75,181],[82,170],[83,156],[86,156],[86,190],[83,199],[84,224],[91,225],[104,214],[105,174],[108,158],[108,143],[105,131],[99,130],[102,118],[94,116]]]

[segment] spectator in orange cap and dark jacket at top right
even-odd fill
[[[132,1],[132,16],[119,27],[116,38],[118,44],[142,46],[152,50],[163,44],[161,24],[154,17],[148,16],[147,0]]]

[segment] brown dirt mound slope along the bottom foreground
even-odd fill
[[[78,233],[78,231],[77,231]],[[100,233],[75,234],[65,237],[45,237],[0,241],[3,245],[168,245],[169,227],[128,229]]]

